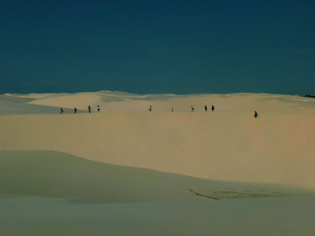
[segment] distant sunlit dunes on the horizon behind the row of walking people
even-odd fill
[[[21,95],[20,95],[21,96]],[[34,95],[31,95],[34,97]],[[291,95],[276,94],[149,94],[137,95],[123,92],[100,91],[96,93],[52,94],[29,102],[46,106],[87,110],[90,105],[96,111],[100,105],[104,111],[147,111],[151,105],[153,111],[189,112],[191,106],[195,112],[203,112],[207,105],[215,105],[216,111],[260,111],[315,115],[314,99]]]

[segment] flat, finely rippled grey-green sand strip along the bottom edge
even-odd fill
[[[209,202],[64,204],[0,202],[0,235],[313,236],[313,196]]]

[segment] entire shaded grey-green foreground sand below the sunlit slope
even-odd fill
[[[289,186],[199,179],[44,150],[1,151],[0,171],[0,235],[315,231],[314,192]]]

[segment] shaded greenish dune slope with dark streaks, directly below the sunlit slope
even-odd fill
[[[0,151],[0,171],[0,197],[37,196],[72,203],[186,202],[313,193],[116,166],[45,150]]]

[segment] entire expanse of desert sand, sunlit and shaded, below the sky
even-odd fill
[[[1,95],[0,235],[313,235],[314,108],[250,93]]]

